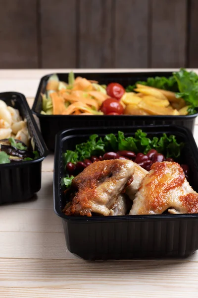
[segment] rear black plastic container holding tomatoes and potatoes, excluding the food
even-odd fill
[[[61,81],[68,82],[68,74],[57,74]],[[134,84],[137,80],[146,80],[149,76],[170,76],[170,72],[147,72],[147,73],[78,73],[76,76],[86,77],[87,79],[98,80],[100,84],[118,82],[124,87]],[[50,75],[42,77],[36,94],[33,113],[40,120],[41,132],[49,150],[54,150],[55,135],[63,129],[75,127],[101,127],[101,126],[139,126],[139,125],[166,125],[174,124],[194,129],[195,119],[198,114],[187,116],[103,116],[103,115],[42,115],[42,96],[45,92],[47,81]]]

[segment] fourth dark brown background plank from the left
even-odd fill
[[[148,0],[115,0],[115,67],[148,67]]]

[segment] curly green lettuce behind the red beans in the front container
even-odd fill
[[[150,149],[156,149],[166,157],[178,158],[183,148],[183,143],[177,143],[175,136],[163,134],[160,138],[148,138],[142,130],[137,130],[134,137],[125,137],[123,132],[118,132],[117,136],[108,134],[104,138],[98,135],[90,136],[87,142],[76,145],[75,151],[67,150],[63,154],[64,163],[83,161],[92,155],[102,155],[104,152],[117,150],[129,150],[135,153],[146,154]]]

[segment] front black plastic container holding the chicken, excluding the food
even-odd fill
[[[198,148],[189,129],[177,126],[85,128],[65,130],[56,136],[54,159],[54,211],[61,217],[70,252],[86,260],[133,259],[144,257],[187,257],[198,249],[198,214],[71,217],[62,213],[65,199],[61,190],[64,176],[62,153],[75,149],[90,135],[134,136],[137,129],[148,137],[174,134],[184,142],[180,163],[190,167],[190,184],[198,192]]]

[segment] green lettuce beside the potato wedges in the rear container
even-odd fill
[[[188,113],[197,113],[198,108],[198,74],[180,69],[170,77],[155,76],[148,77],[146,81],[138,81],[134,85],[129,85],[126,92],[134,91],[136,84],[147,85],[159,89],[176,92],[177,97],[182,97],[189,105]]]

